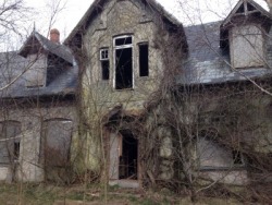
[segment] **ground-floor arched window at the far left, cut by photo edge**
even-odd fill
[[[20,157],[21,123],[3,121],[0,123],[0,164],[10,164]]]

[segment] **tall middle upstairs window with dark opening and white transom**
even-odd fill
[[[114,38],[114,59],[116,89],[133,88],[133,37]]]

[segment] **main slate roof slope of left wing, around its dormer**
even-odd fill
[[[74,95],[77,87],[78,68],[65,67],[61,74],[45,87],[26,87],[29,69],[27,59],[16,52],[0,53],[0,96],[2,98],[23,98],[35,96]],[[47,68],[45,68],[47,69]]]

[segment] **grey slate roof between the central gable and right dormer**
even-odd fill
[[[182,74],[177,77],[178,84],[219,84],[272,74],[272,70],[265,68],[233,70],[228,50],[220,48],[221,23],[185,27],[189,53],[182,67]],[[268,45],[268,52],[272,52],[271,44]]]

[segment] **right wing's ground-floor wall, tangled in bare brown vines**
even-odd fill
[[[190,120],[184,121],[194,128],[202,177],[234,184],[248,182],[247,157],[272,150],[271,97],[246,83],[196,91],[185,98],[184,118]],[[242,165],[234,165],[232,150],[242,153]]]

